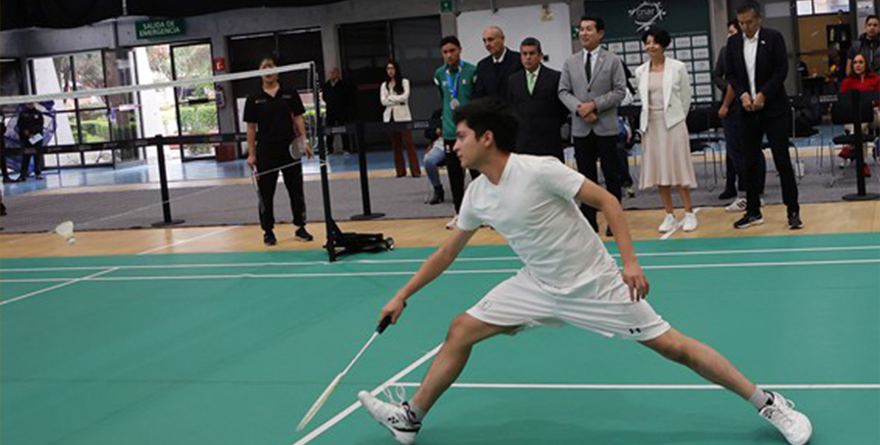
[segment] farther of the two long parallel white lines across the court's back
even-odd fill
[[[236,226],[238,227],[238,226]],[[185,241],[185,240],[184,240]],[[637,257],[676,257],[691,255],[748,255],[748,254],[770,254],[770,253],[792,253],[792,252],[849,252],[860,250],[880,250],[880,245],[870,246],[846,246],[846,247],[793,247],[778,249],[738,249],[738,250],[695,250],[695,251],[675,251],[675,252],[645,252],[638,253]],[[611,254],[613,257],[619,257],[620,254]],[[473,257],[473,258],[456,258],[455,262],[485,262],[485,261],[520,261],[519,257]],[[27,268],[2,268],[3,272],[58,272],[73,270],[96,270],[116,267],[120,270],[135,269],[196,269],[196,268],[212,268],[212,267],[288,267],[288,266],[331,266],[344,264],[421,264],[425,259],[398,259],[398,260],[348,260],[331,263],[329,261],[292,261],[292,262],[253,262],[253,263],[190,263],[190,264],[133,264],[133,265],[105,265],[105,266],[65,266],[65,267],[27,267]]]

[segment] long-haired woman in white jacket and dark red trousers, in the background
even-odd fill
[[[391,60],[385,65],[385,73],[388,80],[382,82],[379,89],[379,99],[385,105],[385,114],[382,121],[409,122],[412,115],[409,112],[409,80],[404,79],[400,73],[400,65]],[[403,160],[403,146],[406,145],[407,157],[409,157],[409,169],[413,178],[421,176],[419,157],[412,141],[412,130],[391,131],[391,149],[394,151],[394,167],[397,169],[397,177],[406,176],[406,163]]]

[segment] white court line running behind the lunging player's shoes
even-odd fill
[[[406,388],[418,388],[419,382],[400,382]],[[453,383],[453,388],[467,389],[637,389],[637,390],[716,390],[719,385],[661,385],[661,384],[563,384],[563,383]],[[806,383],[806,384],[758,384],[763,389],[880,389],[874,383]]]

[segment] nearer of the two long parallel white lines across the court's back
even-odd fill
[[[845,264],[880,263],[880,259],[871,260],[835,260],[835,261],[787,261],[767,263],[718,263],[718,264],[672,264],[662,266],[642,266],[642,270],[666,269],[716,269],[730,267],[784,267],[784,266],[825,266]],[[479,274],[513,274],[520,269],[485,269],[485,270],[447,270],[442,275],[479,275]],[[288,274],[223,274],[223,275],[147,275],[131,277],[102,277],[91,281],[153,281],[153,280],[222,280],[241,278],[328,278],[328,277],[384,277],[415,275],[411,272],[326,272],[326,273],[288,273]],[[51,283],[66,281],[68,278],[14,278],[0,280],[4,283]]]

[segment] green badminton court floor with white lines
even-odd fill
[[[880,443],[880,234],[637,250],[655,309],[794,400],[813,443]],[[296,425],[430,253],[3,260],[0,442],[391,444],[355,394],[391,383],[412,393],[449,321],[521,266],[509,248],[467,248],[309,427]],[[571,327],[491,339],[459,383],[419,443],[784,443],[687,369]]]

